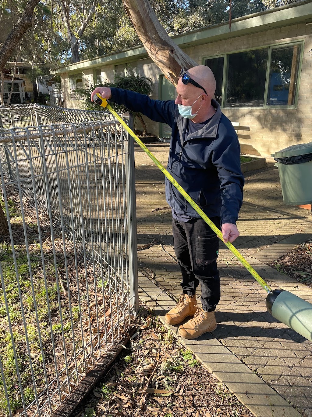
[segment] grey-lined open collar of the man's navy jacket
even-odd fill
[[[201,130],[195,133],[191,133],[191,135],[188,135],[187,140],[191,138],[196,138],[198,136],[201,136],[203,138],[210,138],[210,139],[215,139],[217,137],[218,126],[220,123],[220,118],[221,118],[222,113],[221,113],[221,108],[220,108],[220,104],[218,103],[218,101],[216,101],[215,99],[212,99],[211,104],[216,109],[215,114],[212,116],[210,121]],[[178,129],[180,132],[180,136],[181,138],[183,138],[183,141],[184,141],[188,119],[180,115],[178,108],[176,108],[176,121],[177,121]]]

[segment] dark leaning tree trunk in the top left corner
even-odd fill
[[[12,54],[12,50],[15,48],[19,40],[22,38],[26,30],[32,27],[32,19],[34,9],[39,3],[40,0],[28,0],[28,3],[25,6],[24,13],[18,19],[17,24],[9,33],[8,37],[6,38],[2,48],[0,50],[0,71],[3,70],[5,64],[10,58]]]

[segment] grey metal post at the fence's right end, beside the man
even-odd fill
[[[129,116],[128,116],[129,114]],[[129,118],[129,128],[133,131],[133,114],[125,113]],[[127,193],[127,219],[128,219],[128,251],[129,251],[129,281],[130,304],[132,313],[136,315],[139,309],[139,283],[138,283],[138,249],[136,243],[136,189],[134,169],[134,141],[127,133],[125,141],[126,151],[126,193]]]

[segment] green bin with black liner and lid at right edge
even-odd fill
[[[273,156],[284,203],[290,206],[312,203],[312,142],[289,146]]]

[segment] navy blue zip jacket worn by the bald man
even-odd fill
[[[119,88],[111,88],[111,94],[114,103],[171,127],[167,170],[208,217],[235,224],[243,201],[240,145],[218,102],[212,100],[216,112],[204,128],[186,136],[188,119],[180,116],[173,100],[152,100]],[[166,199],[176,214],[201,217],[167,178]]]

